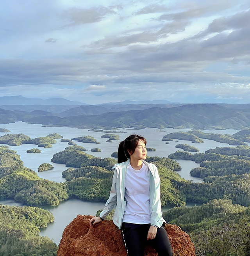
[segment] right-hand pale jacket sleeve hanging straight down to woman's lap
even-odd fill
[[[154,201],[152,202],[151,225],[161,227],[163,223],[161,212],[161,180],[156,166],[155,169],[155,195]]]

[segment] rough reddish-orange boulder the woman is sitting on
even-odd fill
[[[89,227],[92,216],[77,215],[64,230],[57,256],[127,256],[121,231],[112,221],[105,220]],[[195,256],[195,247],[186,232],[180,227],[167,224],[165,227],[174,256]],[[157,256],[147,246],[145,255]]]

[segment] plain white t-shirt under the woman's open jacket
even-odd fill
[[[149,203],[149,169],[143,163],[135,170],[129,163],[125,176],[125,199],[127,200],[122,222],[148,224],[151,222]]]

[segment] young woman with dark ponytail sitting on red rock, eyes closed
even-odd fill
[[[146,139],[133,134],[120,142],[112,187],[104,210],[89,225],[101,222],[115,209],[113,222],[123,236],[128,256],[144,256],[146,243],[159,256],[172,256],[164,229],[157,167],[146,159]]]

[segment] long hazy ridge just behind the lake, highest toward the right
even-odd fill
[[[111,112],[100,115],[80,115],[59,118],[37,116],[25,122],[78,128],[96,127],[155,127],[155,128],[227,128],[250,127],[250,109],[227,109],[216,104],[194,104],[180,107]]]

